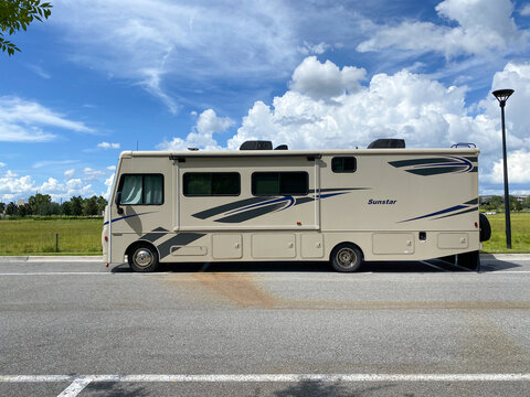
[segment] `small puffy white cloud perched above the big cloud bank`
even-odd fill
[[[293,73],[290,88],[315,99],[329,98],[344,92],[358,92],[359,81],[363,81],[367,71],[363,68],[344,66],[340,69],[330,61],[321,64],[316,56],[308,56]]]

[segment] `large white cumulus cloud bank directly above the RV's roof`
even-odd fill
[[[445,87],[407,71],[375,75],[368,87],[342,90],[332,101],[289,90],[274,98],[273,108],[257,101],[229,147],[271,139],[298,149],[354,148],[381,137],[405,138],[412,147],[448,147],[469,139],[469,122],[478,131],[466,115],[465,93],[465,87]]]

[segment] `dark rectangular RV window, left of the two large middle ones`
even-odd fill
[[[237,172],[187,172],[183,178],[186,196],[240,195]]]

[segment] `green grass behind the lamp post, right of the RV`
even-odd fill
[[[483,243],[483,253],[530,253],[530,213],[511,213],[511,248],[506,248],[505,214],[486,215],[491,238]]]

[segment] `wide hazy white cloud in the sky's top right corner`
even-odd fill
[[[441,18],[456,26],[431,22],[402,22],[375,26],[371,39],[360,43],[360,52],[401,49],[438,52],[447,58],[485,55],[492,51],[520,52],[528,44],[528,31],[517,28],[510,0],[444,0],[436,6]]]

